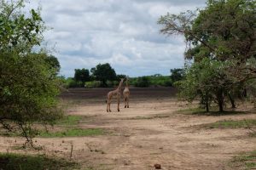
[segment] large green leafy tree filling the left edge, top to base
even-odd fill
[[[32,144],[34,122],[52,124],[61,117],[60,82],[59,65],[53,66],[44,50],[33,50],[43,41],[45,26],[39,11],[22,11],[25,5],[0,1],[0,124]]]

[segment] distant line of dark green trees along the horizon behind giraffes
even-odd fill
[[[61,77],[66,88],[109,88],[119,84],[120,78],[125,75],[117,75],[111,65],[99,64],[88,69],[75,69],[73,77]],[[149,86],[172,87],[174,82],[183,78],[183,69],[171,69],[170,76],[155,74],[153,76],[129,77],[131,86],[147,88]]]

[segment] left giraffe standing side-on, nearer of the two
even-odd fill
[[[111,112],[110,110],[110,104],[111,104],[111,99],[113,98],[113,96],[116,96],[117,99],[118,99],[118,111],[119,110],[119,103],[120,103],[120,96],[121,96],[121,88],[122,88],[122,84],[124,82],[124,78],[121,78],[121,81],[119,82],[119,87],[116,88],[115,90],[113,91],[110,91],[108,92],[108,95],[107,95],[107,100],[106,100],[106,103],[108,104],[107,105],[107,112]]]

